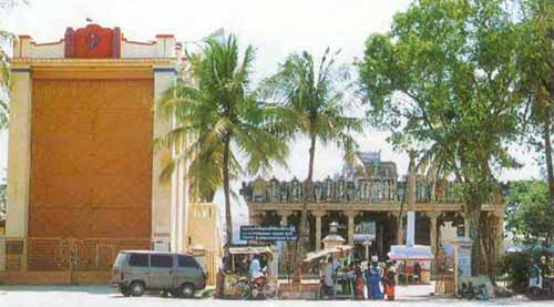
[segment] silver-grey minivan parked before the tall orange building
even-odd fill
[[[144,290],[162,290],[174,297],[193,297],[206,287],[206,274],[191,255],[121,250],[113,264],[112,284],[124,296],[141,296]]]

